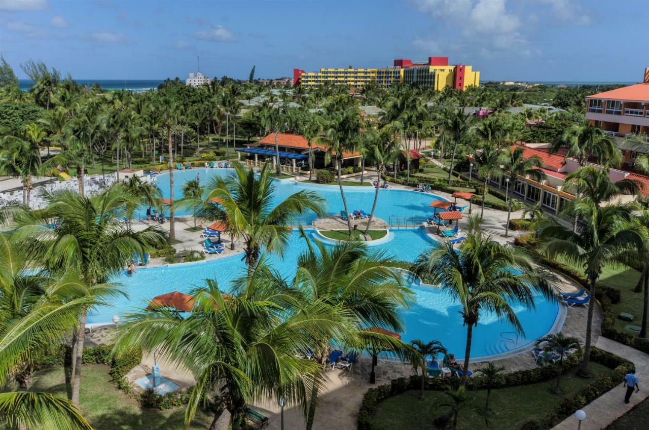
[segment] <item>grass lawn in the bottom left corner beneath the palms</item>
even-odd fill
[[[95,430],[183,429],[185,410],[182,407],[159,411],[143,409],[138,402],[127,398],[109,382],[108,366],[91,364],[83,367],[80,405],[84,417]],[[34,374],[32,391],[47,391],[66,397],[62,367],[43,368]],[[210,427],[214,415],[197,411],[190,429]]]

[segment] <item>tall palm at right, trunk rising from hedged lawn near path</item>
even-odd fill
[[[539,227],[541,251],[551,258],[561,257],[575,267],[582,267],[590,286],[591,297],[596,297],[597,281],[607,264],[625,264],[630,255],[641,252],[646,231],[632,223],[628,205],[602,206],[583,198],[572,209],[576,216],[574,229],[554,218],[548,218]],[[589,376],[591,333],[594,306],[589,306],[584,343],[583,362],[579,373]]]

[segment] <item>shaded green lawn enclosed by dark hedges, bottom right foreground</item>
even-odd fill
[[[531,356],[525,357],[530,359]],[[611,373],[611,369],[602,364],[591,362],[593,377]],[[580,388],[588,385],[592,379],[583,379],[575,375],[576,369],[563,375],[561,388],[563,394],[554,394],[554,381],[545,383],[513,386],[491,391],[489,407],[489,429],[520,429],[525,422],[543,418],[557,407],[563,398],[570,396]],[[469,391],[471,402],[459,414],[458,429],[487,429],[480,411],[484,409],[486,390]],[[393,398],[386,399],[378,405],[373,414],[373,429],[432,429],[433,420],[448,411],[443,406],[447,396],[439,391],[426,391],[424,400],[417,397],[419,391],[411,390]]]

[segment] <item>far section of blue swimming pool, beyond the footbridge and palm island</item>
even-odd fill
[[[197,173],[201,175],[201,183],[205,184],[208,179],[215,176],[227,176],[233,169],[191,169],[177,170],[173,173],[174,199],[182,197],[182,185],[187,181],[196,179]],[[373,178],[369,178],[373,181]],[[162,192],[162,197],[169,198],[169,173],[162,173],[156,177],[156,183]],[[337,186],[307,184],[296,181],[283,180],[275,181],[274,201],[279,203],[293,193],[300,190],[315,191],[324,197],[326,214],[339,214],[343,210],[343,199]],[[369,213],[374,202],[374,188],[372,186],[345,186],[345,197],[349,211],[362,209]],[[443,197],[434,194],[420,193],[408,190],[393,190],[390,188],[380,189],[378,205],[376,205],[375,216],[388,221],[390,217],[407,218],[408,220],[422,220],[432,215],[430,203],[435,199],[445,200]],[[188,210],[177,210],[178,215],[189,214]],[[141,216],[143,218],[143,216]],[[296,220],[296,223],[310,224],[315,219],[313,213],[308,213]]]

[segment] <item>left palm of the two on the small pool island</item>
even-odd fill
[[[326,121],[324,137],[318,139],[327,146],[326,153],[324,153],[324,162],[329,164],[334,160],[336,164],[338,188],[340,189],[340,196],[343,199],[345,214],[349,214],[349,209],[347,209],[345,190],[343,190],[343,184],[340,181],[341,167],[345,152],[353,151],[356,147],[356,139],[358,138],[360,126],[360,114],[358,114],[358,110],[356,108],[350,108]],[[347,228],[351,235],[352,221],[349,219],[349,216],[347,217]]]

